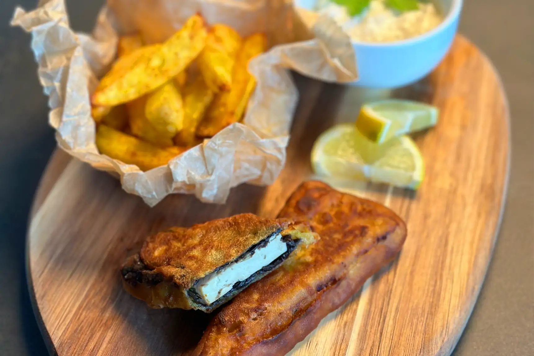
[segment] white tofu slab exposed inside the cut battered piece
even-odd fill
[[[237,263],[231,263],[222,270],[210,273],[200,279],[195,290],[203,302],[210,305],[229,292],[235,282],[246,280],[286,251],[287,245],[282,241],[282,235],[275,235],[269,239],[265,247],[254,251],[253,255],[249,255]]]

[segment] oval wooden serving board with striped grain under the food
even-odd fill
[[[28,275],[50,351],[73,355],[182,355],[210,315],[151,310],[123,291],[119,267],[152,233],[241,212],[276,216],[310,176],[317,136],[354,121],[362,101],[410,98],[441,109],[418,135],[426,180],[417,193],[355,183],[355,194],[403,217],[409,235],[395,262],[326,317],[292,355],[449,355],[475,304],[496,240],[509,165],[505,94],[490,61],[458,36],[450,54],[409,88],[369,91],[296,76],[301,90],[286,169],[270,187],[241,185],[225,205],[174,195],[155,208],[119,182],[56,152],[35,198]]]

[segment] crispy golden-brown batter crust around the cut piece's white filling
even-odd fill
[[[271,270],[256,273],[246,285],[232,289],[210,305],[199,303],[188,290],[197,280],[279,232],[298,240],[299,245],[313,242],[316,236],[306,223],[293,219],[264,219],[250,213],[190,228],[170,228],[148,238],[139,254],[126,260],[121,270],[124,289],[153,308],[193,308],[211,312]],[[276,267],[278,265],[272,269]]]

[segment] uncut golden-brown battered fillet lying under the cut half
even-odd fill
[[[402,247],[406,225],[378,203],[303,183],[279,214],[320,239],[242,291],[211,320],[195,356],[285,355]]]

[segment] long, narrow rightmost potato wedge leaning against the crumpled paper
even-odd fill
[[[217,93],[197,128],[197,136],[215,136],[226,126],[241,120],[256,85],[254,77],[248,73],[248,62],[265,51],[266,43],[262,34],[245,38],[232,70],[232,87],[230,91]]]

